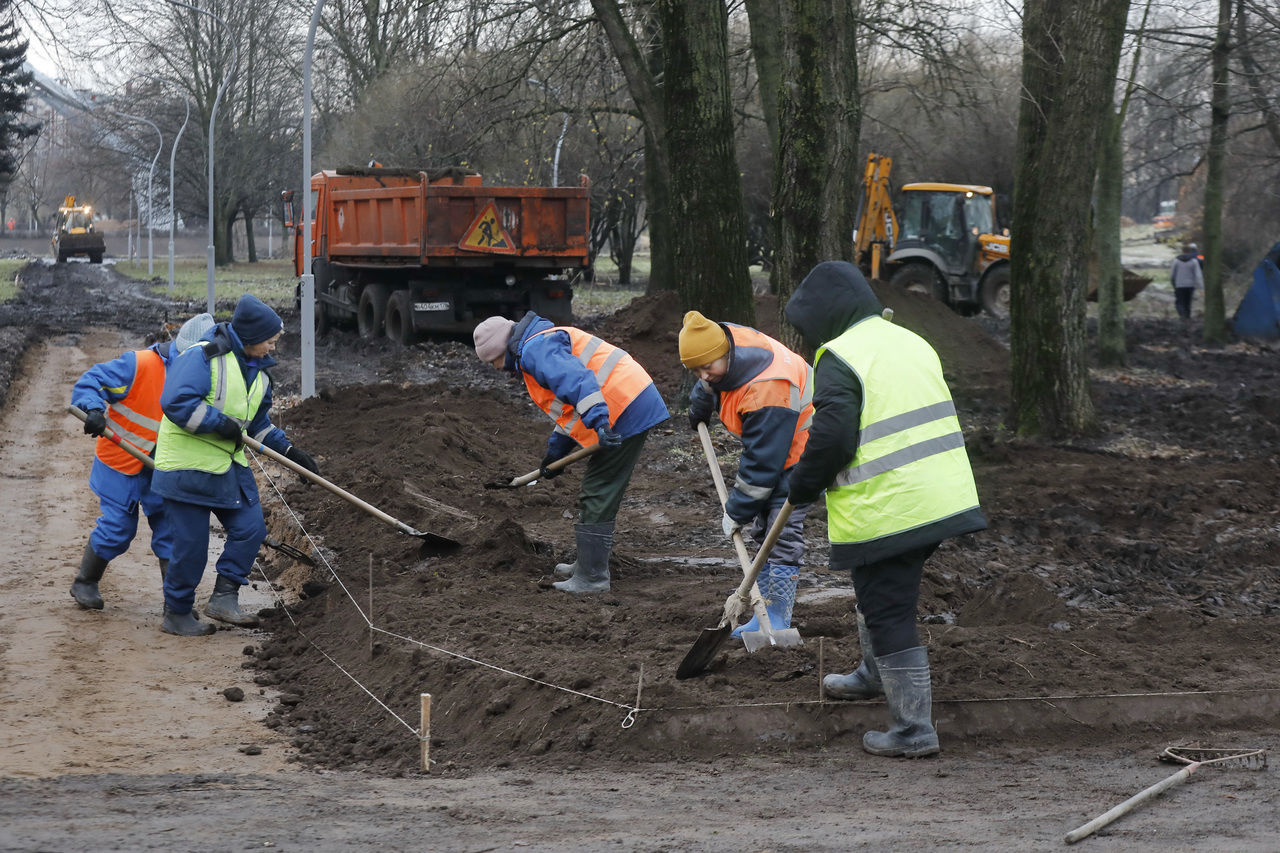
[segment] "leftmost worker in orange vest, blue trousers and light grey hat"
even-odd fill
[[[83,410],[84,434],[97,435],[97,452],[88,487],[102,515],[84,543],[72,598],[86,610],[102,610],[97,584],[111,560],[129,549],[138,530],[138,510],[151,525],[151,551],[160,576],[169,569],[173,534],[164,500],[151,491],[151,469],[106,438],[106,429],[143,453],[152,455],[160,429],[160,392],[169,364],[214,328],[214,318],[200,314],[182,324],[174,339],[119,359],[95,364],[72,389],[72,405]]]

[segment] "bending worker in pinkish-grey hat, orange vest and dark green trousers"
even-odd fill
[[[529,396],[556,421],[547,441],[548,465],[577,447],[599,443],[579,491],[577,560],[556,566],[553,585],[576,596],[609,590],[609,553],[622,496],[649,430],[671,415],[653,379],[625,351],[589,332],[556,325],[532,311],[518,321],[490,316],[475,328],[476,355],[518,374]]]

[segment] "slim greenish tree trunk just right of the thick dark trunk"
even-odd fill
[[[1120,206],[1124,190],[1124,115],[1107,110],[1098,158],[1097,220],[1093,238],[1098,252],[1098,364],[1125,362],[1124,268],[1120,265]]]

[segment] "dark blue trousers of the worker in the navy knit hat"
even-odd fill
[[[164,603],[169,612],[189,613],[196,603],[196,587],[205,575],[209,561],[209,514],[212,512],[227,530],[227,547],[218,557],[218,574],[237,584],[248,583],[257,549],[266,538],[262,506],[256,501],[238,507],[207,507],[169,500],[169,523],[173,526],[173,557],[164,578]]]

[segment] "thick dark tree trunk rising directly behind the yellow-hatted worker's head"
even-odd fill
[[[659,0],[671,163],[671,259],[682,307],[750,325],[742,184],[733,147],[722,0]],[[650,222],[662,219],[654,210]]]

